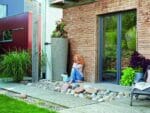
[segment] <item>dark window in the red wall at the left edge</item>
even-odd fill
[[[5,30],[0,32],[0,42],[12,41],[12,30]]]

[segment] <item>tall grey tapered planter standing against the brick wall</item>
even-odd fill
[[[67,71],[68,39],[52,38],[52,80],[61,81]]]

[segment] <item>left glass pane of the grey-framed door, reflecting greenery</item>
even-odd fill
[[[116,82],[117,16],[104,17],[103,81]]]

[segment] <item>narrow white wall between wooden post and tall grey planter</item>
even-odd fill
[[[42,7],[42,50],[47,55],[46,79],[52,80],[52,55],[51,44],[45,45],[45,42],[51,43],[51,34],[56,27],[56,21],[63,17],[62,9],[50,7],[49,0],[37,0],[41,2]]]

